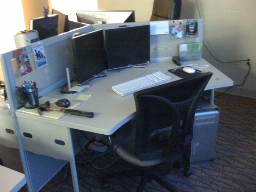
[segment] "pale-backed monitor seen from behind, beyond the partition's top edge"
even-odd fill
[[[133,10],[75,11],[78,22],[87,24],[135,22]]]

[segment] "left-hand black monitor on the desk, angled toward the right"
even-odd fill
[[[74,69],[78,84],[106,70],[103,30],[72,37]]]

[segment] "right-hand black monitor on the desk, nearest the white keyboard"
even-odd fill
[[[149,63],[149,25],[105,30],[108,69]]]

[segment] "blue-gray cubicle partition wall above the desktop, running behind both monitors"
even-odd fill
[[[185,23],[190,19],[183,19]],[[151,35],[150,36],[150,58],[170,58],[171,56],[178,55],[178,45],[181,43],[189,42],[202,42],[203,39],[203,19],[193,19],[198,22],[198,35],[195,38],[173,39],[171,34],[164,35]],[[159,21],[161,22],[161,21]],[[171,31],[172,20],[169,21],[169,27]],[[150,22],[130,22],[125,23],[127,26],[135,25],[149,25]],[[21,105],[17,102],[17,96],[15,93],[15,86],[21,86],[24,81],[36,81],[39,89],[39,95],[63,86],[66,83],[66,67],[70,68],[70,74],[73,73],[73,54],[71,37],[74,33],[88,33],[98,29],[117,28],[123,23],[117,24],[102,24],[102,25],[90,25],[82,28],[78,28],[67,33],[62,33],[58,36],[54,36],[48,39],[42,40],[45,48],[45,53],[48,61],[48,65],[39,69],[36,69],[36,65],[31,52],[31,46],[26,46],[25,49],[28,53],[33,72],[21,76],[19,74],[16,61],[13,56],[13,52],[4,53],[1,55],[1,61],[3,68],[6,68],[7,76],[10,83],[8,93],[11,94],[14,102],[15,109],[18,109]],[[33,45],[33,44],[32,44]],[[11,67],[10,67],[11,66]],[[4,70],[5,72],[5,70]],[[9,96],[8,96],[9,97]],[[9,97],[10,98],[10,97]]]

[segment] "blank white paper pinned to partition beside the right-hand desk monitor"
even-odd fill
[[[150,21],[150,35],[170,34],[169,21]]]

